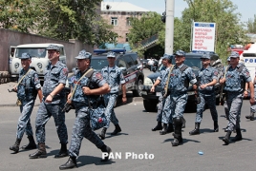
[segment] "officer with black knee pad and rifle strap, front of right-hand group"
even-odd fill
[[[174,123],[174,141],[173,146],[181,144],[182,135],[182,116],[187,102],[187,87],[190,83],[193,89],[197,89],[197,79],[192,71],[192,68],[184,65],[185,53],[182,50],[177,51],[175,54],[175,66],[172,70],[169,91],[170,91],[170,108],[171,115]]]

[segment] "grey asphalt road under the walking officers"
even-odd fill
[[[38,106],[32,112],[32,125]],[[219,112],[220,131],[213,133],[213,122],[210,112],[206,109],[203,113],[201,134],[189,136],[189,131],[194,128],[195,113],[184,113],[186,127],[183,129],[183,144],[177,147],[171,145],[171,134],[160,135],[152,132],[156,125],[156,113],[145,112],[142,102],[129,102],[115,108],[122,132],[117,136],[111,136],[114,125],[111,123],[107,130],[104,142],[109,145],[114,155],[120,155],[121,159],[101,163],[101,152],[96,146],[84,139],[77,159],[78,168],[75,170],[255,170],[255,122],[245,119],[249,112],[249,102],[245,100],[242,108],[242,134],[243,141],[224,145],[221,140],[225,133],[222,128],[226,126],[224,107],[217,106]],[[9,171],[40,171],[58,170],[58,166],[65,163],[68,158],[54,159],[53,156],[60,148],[55,131],[53,119],[46,124],[46,145],[48,158],[31,160],[29,154],[35,150],[20,151],[11,154],[9,146],[15,141],[19,109],[17,106],[0,106],[0,170]],[[69,133],[69,141],[72,126],[75,121],[75,111],[66,115],[66,123]],[[34,131],[34,126],[33,126]],[[97,130],[96,133],[99,133]],[[232,134],[231,137],[234,137]],[[21,145],[27,144],[24,136]],[[69,145],[69,144],[68,144]],[[202,150],[203,155],[198,152]],[[129,156],[132,155],[132,156]],[[138,157],[139,159],[136,159]],[[147,158],[147,159],[146,159]],[[150,159],[149,159],[150,158]]]

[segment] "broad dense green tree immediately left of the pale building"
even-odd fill
[[[57,39],[76,39],[90,45],[114,43],[117,33],[96,13],[101,0],[40,0],[39,34]],[[60,3],[59,3],[60,2]]]

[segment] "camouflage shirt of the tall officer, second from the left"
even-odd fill
[[[54,66],[52,66],[51,63],[48,66],[46,66],[45,72],[44,72],[44,85],[43,85],[43,95],[45,98],[49,96],[51,92],[53,92],[53,89],[57,85],[59,84],[66,85],[68,73],[69,71],[67,66],[59,61]],[[65,97],[65,89],[63,88],[58,94],[54,95],[53,101],[58,101],[64,97]],[[59,103],[59,101],[55,103],[57,104]],[[55,103],[52,102],[52,104],[55,104]]]

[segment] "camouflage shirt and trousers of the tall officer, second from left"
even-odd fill
[[[61,111],[66,102],[64,88],[53,97],[51,104],[45,103],[45,99],[53,91],[55,86],[59,84],[66,85],[68,76],[68,68],[61,62],[57,62],[54,66],[49,64],[44,72],[43,85],[43,102],[39,105],[39,109],[35,119],[35,133],[38,143],[45,143],[45,124],[53,116],[60,143],[68,143],[68,132],[65,124],[65,112]]]

